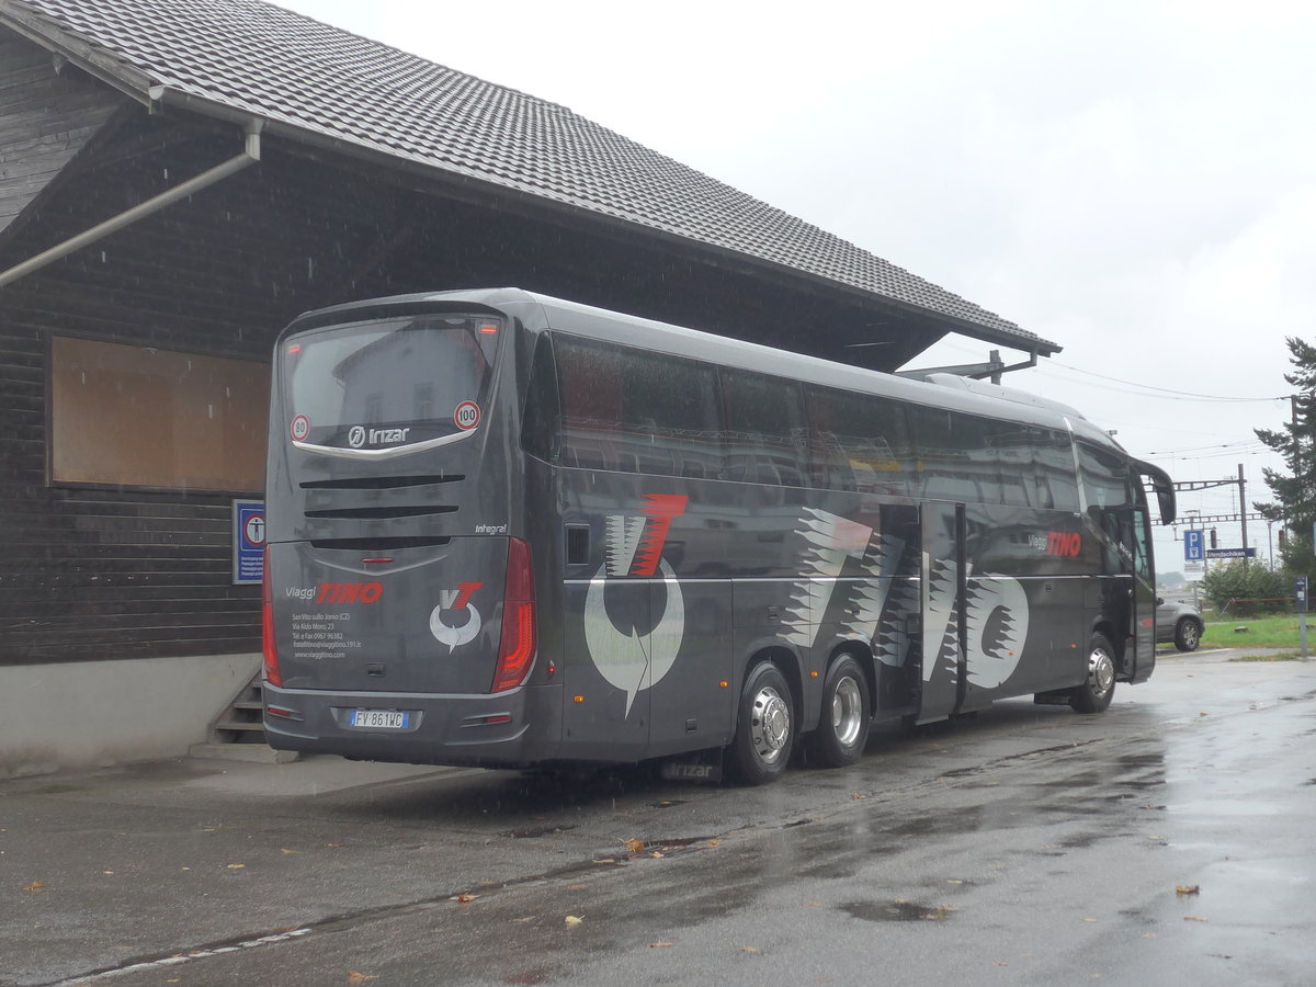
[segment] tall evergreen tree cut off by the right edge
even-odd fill
[[[1292,421],[1286,422],[1282,430],[1254,432],[1257,438],[1284,458],[1288,474],[1262,470],[1275,500],[1253,507],[1270,521],[1287,522],[1288,537],[1280,553],[1284,569],[1311,572],[1316,562],[1312,555],[1312,522],[1316,521],[1316,346],[1296,337],[1286,342],[1294,372],[1284,374],[1284,380],[1300,392],[1294,399]]]

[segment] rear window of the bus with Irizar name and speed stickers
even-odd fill
[[[292,438],[380,449],[479,426],[501,322],[424,315],[316,329],[284,341]]]

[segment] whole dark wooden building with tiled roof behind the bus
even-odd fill
[[[503,284],[883,370],[948,333],[1058,349],[261,0],[0,0],[0,776],[184,749],[255,670],[233,500],[261,496],[282,325]]]

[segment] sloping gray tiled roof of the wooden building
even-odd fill
[[[261,0],[0,0],[0,22],[21,22],[142,96],[163,86],[299,132],[871,292],[949,321],[948,329],[1055,349],[566,107]]]

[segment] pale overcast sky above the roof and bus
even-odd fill
[[[1175,479],[1242,463],[1269,499],[1252,428],[1288,416],[1284,337],[1316,337],[1316,5],[282,3],[562,103],[1058,342],[1007,383]],[[1249,541],[1266,553],[1263,524]]]

